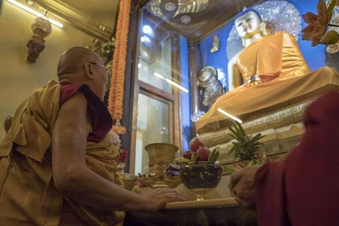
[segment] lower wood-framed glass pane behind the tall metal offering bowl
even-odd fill
[[[148,173],[148,156],[144,146],[170,142],[170,106],[167,103],[138,94],[135,174]]]

